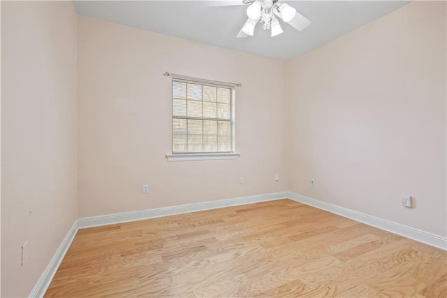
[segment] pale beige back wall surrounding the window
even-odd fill
[[[166,160],[166,71],[243,84],[235,104],[240,159]],[[286,190],[285,82],[284,62],[79,17],[79,216]]]

